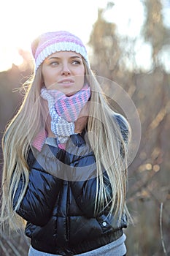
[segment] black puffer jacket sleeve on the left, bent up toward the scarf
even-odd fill
[[[26,221],[43,226],[50,219],[55,200],[63,183],[60,178],[57,178],[60,171],[59,159],[62,154],[59,148],[46,144],[42,151],[36,155],[34,161],[32,161],[33,157],[30,157],[30,154],[28,157],[28,165],[31,163],[28,187],[16,212]],[[53,168],[55,168],[56,176],[49,173],[50,171],[54,173]],[[22,190],[23,182],[24,180],[20,179],[13,201],[14,208]]]

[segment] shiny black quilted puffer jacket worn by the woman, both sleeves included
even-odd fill
[[[127,139],[128,127],[116,115]],[[108,209],[94,214],[96,159],[83,135],[72,135],[66,151],[44,144],[42,151],[30,151],[29,182],[18,214],[26,219],[26,236],[34,249],[57,255],[77,255],[115,241],[123,235],[126,217],[120,225]],[[107,173],[104,182],[109,189]],[[14,204],[23,181],[20,181]]]

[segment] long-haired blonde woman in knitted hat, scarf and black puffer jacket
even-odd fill
[[[32,53],[34,77],[2,143],[1,222],[26,220],[30,256],[125,255],[128,123],[78,37],[42,34]]]

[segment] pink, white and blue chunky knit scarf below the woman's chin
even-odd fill
[[[59,143],[66,143],[69,136],[74,134],[74,121],[90,98],[90,87],[85,84],[80,91],[69,97],[61,91],[43,87],[41,97],[48,102],[52,132]]]

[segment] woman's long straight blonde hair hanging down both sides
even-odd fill
[[[96,157],[98,184],[96,188],[96,213],[101,208],[109,206],[109,213],[114,213],[120,220],[123,212],[130,217],[125,206],[127,143],[123,139],[120,128],[115,121],[114,112],[109,108],[98,81],[86,62],[83,61],[83,63],[85,75],[87,75],[86,79],[91,89],[88,140]],[[24,86],[26,95],[23,103],[16,116],[9,122],[2,139],[4,169],[0,222],[9,223],[9,229],[23,227],[24,221],[16,214],[16,210],[20,206],[28,186],[28,151],[44,121],[41,97],[39,97],[42,87],[42,65],[36,71],[36,75],[28,80]],[[104,183],[102,167],[107,171],[111,194],[107,193],[108,189],[105,185],[106,182]],[[13,208],[13,200],[20,178],[26,182],[23,183],[18,203]]]

